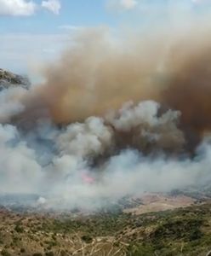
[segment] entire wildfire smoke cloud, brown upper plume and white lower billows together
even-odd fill
[[[79,32],[43,84],[1,91],[1,191],[95,209],[208,183],[208,20]]]

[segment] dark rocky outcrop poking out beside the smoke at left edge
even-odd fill
[[[30,86],[30,81],[26,77],[0,68],[0,90],[8,89],[11,86],[22,86],[28,89]]]

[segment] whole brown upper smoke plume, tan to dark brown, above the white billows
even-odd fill
[[[180,128],[195,147],[211,129],[211,29],[205,20],[121,40],[105,30],[83,32],[48,67],[46,83],[24,96],[22,118],[49,114],[66,125],[150,99],[181,112]]]

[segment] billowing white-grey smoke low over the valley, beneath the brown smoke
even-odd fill
[[[0,105],[11,109],[4,111],[8,120],[22,109],[13,108],[13,97],[6,101],[16,91],[0,93]],[[16,104],[21,106],[18,100]],[[210,181],[208,143],[202,144],[195,159],[167,158],[163,153],[163,148],[180,148],[184,137],[177,127],[180,112],[159,109],[157,102],[128,102],[105,118],[89,117],[61,128],[49,118],[37,119],[30,130],[2,119],[0,192],[35,193],[40,195],[38,206],[95,210],[125,195],[168,192]],[[132,132],[140,148],[152,143],[160,151],[147,156],[129,145],[117,148],[118,132]],[[93,165],[99,157],[102,162]]]

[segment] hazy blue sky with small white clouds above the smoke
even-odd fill
[[[172,5],[182,12],[208,9],[210,1],[0,0],[0,67],[30,73],[59,55],[82,28],[140,26]]]

